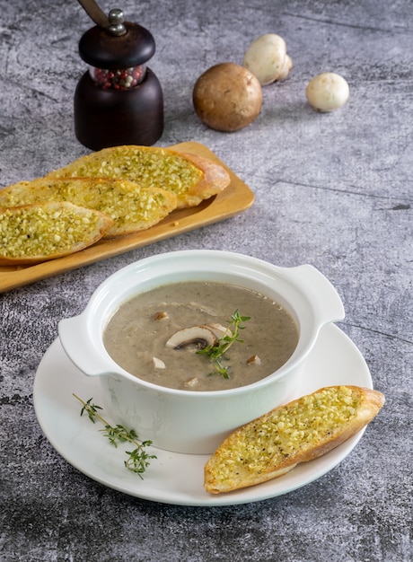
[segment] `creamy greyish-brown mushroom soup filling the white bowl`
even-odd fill
[[[241,322],[242,341],[234,341],[221,358],[225,378],[199,350],[234,337],[230,323],[236,311],[250,320]],[[200,281],[136,295],[120,306],[103,334],[108,353],[128,373],[188,391],[257,382],[285,364],[297,342],[293,318],[278,303],[236,285]]]

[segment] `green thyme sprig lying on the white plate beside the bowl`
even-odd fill
[[[110,423],[107,422],[104,417],[101,417],[101,414],[98,412],[98,410],[102,409],[101,406],[93,404],[92,398],[85,402],[76,396],[76,394],[74,394],[74,397],[82,404],[80,415],[83,416],[83,414],[86,413],[93,424],[96,423],[96,420],[99,420],[104,426],[104,428],[99,431],[101,431],[105,437],[108,437],[112,445],[118,447],[118,443],[127,442],[135,445],[133,451],[126,451],[129,456],[127,457],[127,461],[124,461],[124,464],[127,470],[135,472],[140,479],[143,479],[142,475],[149,466],[151,459],[156,459],[156,455],[148,454],[148,452],[145,451],[145,447],[150,446],[152,441],[140,441],[134,429],[127,430],[120,424],[110,426]]]

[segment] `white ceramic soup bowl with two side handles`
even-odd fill
[[[160,285],[212,281],[265,294],[285,307],[299,331],[286,364],[253,384],[226,391],[180,391],[145,382],[110,357],[102,333],[119,305]],[[219,250],[183,250],[141,259],[108,277],[79,316],[60,321],[66,355],[99,377],[103,407],[115,423],[172,452],[210,453],[234,428],[300,395],[300,378],[321,326],[344,318],[341,300],[310,265],[279,268]]]

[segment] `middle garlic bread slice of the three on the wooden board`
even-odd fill
[[[123,236],[158,224],[176,207],[176,196],[161,188],[141,189],[128,180],[110,178],[39,178],[0,190],[0,206],[69,201],[110,216],[104,238]]]

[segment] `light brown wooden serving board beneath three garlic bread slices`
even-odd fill
[[[230,174],[230,185],[215,197],[203,201],[198,206],[173,211],[161,223],[155,224],[148,230],[111,240],[98,241],[93,246],[65,258],[51,259],[34,266],[0,266],[0,293],[71,269],[81,268],[101,259],[111,258],[129,250],[135,250],[155,241],[187,233],[207,224],[217,223],[233,215],[239,215],[252,205],[254,194],[250,188],[205,145],[187,142],[170,146],[170,148],[205,156],[221,164]]]

